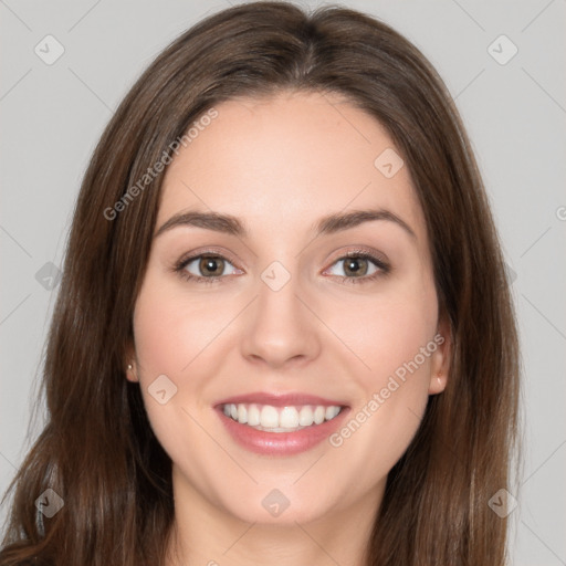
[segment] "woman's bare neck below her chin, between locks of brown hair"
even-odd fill
[[[166,564],[365,566],[384,489],[385,482],[369,496],[321,517],[301,520],[289,514],[284,523],[261,523],[243,521],[187,483],[174,482],[175,522]]]

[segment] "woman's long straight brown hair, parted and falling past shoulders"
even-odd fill
[[[132,87],[94,151],[49,335],[48,420],[11,485],[1,566],[163,564],[174,517],[171,463],[139,386],[125,378],[125,360],[164,172],[135,199],[125,197],[207,109],[281,90],[339,93],[387,128],[418,191],[440,311],[451,325],[447,389],[429,398],[388,475],[367,565],[504,564],[507,520],[488,502],[510,488],[517,335],[459,114],[424,56],[378,20],[336,6],[308,14],[286,2],[252,2],[174,41]],[[51,518],[34,504],[46,489],[64,500]]]

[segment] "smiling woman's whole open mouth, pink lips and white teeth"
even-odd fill
[[[240,447],[259,454],[310,450],[344,421],[349,407],[319,397],[254,394],[227,399],[214,409]]]

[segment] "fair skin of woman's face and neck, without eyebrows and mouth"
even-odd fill
[[[347,101],[284,92],[216,108],[167,170],[156,233],[174,214],[213,210],[240,218],[250,237],[181,226],[154,239],[127,374],[172,460],[167,564],[361,565],[387,474],[448,376],[423,213],[407,167],[386,178],[374,166],[395,148],[385,128]],[[369,208],[394,212],[415,237],[387,220],[312,231],[325,214]],[[209,247],[226,258],[223,279],[174,271]],[[348,275],[358,284],[340,280],[358,247],[391,271],[369,281],[379,268],[358,260],[367,272]],[[273,261],[291,275],[276,292],[261,279]],[[186,271],[211,276],[198,260]],[[255,454],[213,409],[244,392],[301,391],[345,400],[355,415],[438,333],[444,343],[339,447]],[[160,375],[177,387],[165,405],[148,392]],[[273,489],[290,501],[276,517],[262,506]]]

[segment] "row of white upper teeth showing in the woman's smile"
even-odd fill
[[[321,424],[325,420],[334,419],[342,407],[303,406],[303,407],[272,407],[271,405],[229,403],[223,406],[227,417],[248,424],[258,430],[270,432],[292,432],[313,424]]]

